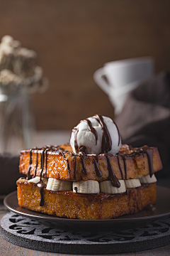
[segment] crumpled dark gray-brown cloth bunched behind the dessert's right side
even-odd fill
[[[164,169],[170,176],[170,73],[162,72],[141,82],[115,117],[123,143],[157,146]]]

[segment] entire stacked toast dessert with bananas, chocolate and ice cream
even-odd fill
[[[102,220],[157,200],[157,147],[121,144],[115,122],[96,114],[72,129],[70,144],[21,150],[18,204],[64,218]]]

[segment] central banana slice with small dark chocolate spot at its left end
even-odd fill
[[[98,181],[76,181],[73,182],[72,187],[75,193],[100,193]]]

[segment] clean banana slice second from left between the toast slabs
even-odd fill
[[[48,178],[46,189],[50,191],[71,191],[72,182],[58,180],[57,178]]]

